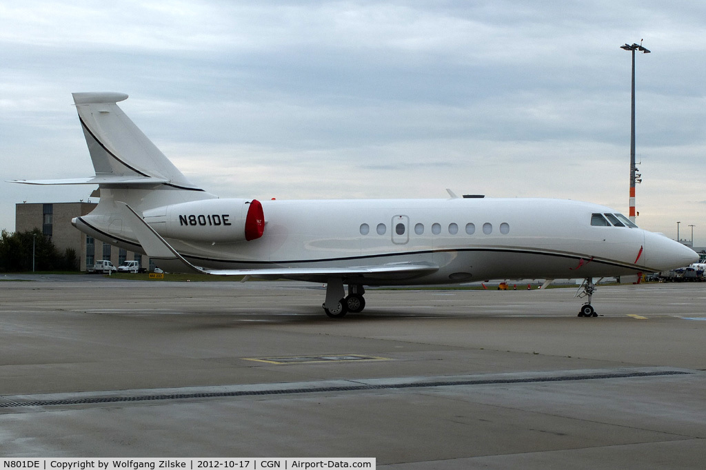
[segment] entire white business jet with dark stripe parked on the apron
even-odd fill
[[[195,186],[122,112],[128,95],[73,93],[100,203],[80,231],[148,255],[169,272],[326,284],[333,318],[365,307],[365,286],[484,279],[593,279],[698,261],[690,248],[609,207],[555,199],[220,199]],[[345,291],[347,286],[347,294]]]

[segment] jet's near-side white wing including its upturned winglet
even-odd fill
[[[303,280],[325,280],[329,277],[361,277],[364,279],[412,279],[438,270],[431,263],[386,263],[350,267],[272,267],[248,270],[209,270],[189,263],[160,234],[126,203],[117,202],[145,253],[163,270],[217,276],[287,277]]]

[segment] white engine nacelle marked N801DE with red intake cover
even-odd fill
[[[169,239],[228,243],[259,239],[265,231],[260,201],[207,199],[143,212],[145,222]]]

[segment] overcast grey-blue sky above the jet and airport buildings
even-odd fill
[[[0,229],[90,186],[71,92],[116,91],[194,183],[237,198],[587,200],[706,246],[706,2],[0,3]]]

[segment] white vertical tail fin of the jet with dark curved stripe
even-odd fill
[[[73,93],[97,178],[119,183],[130,180],[164,182],[203,191],[195,186],[140,131],[116,104],[128,95],[113,92]],[[99,181],[100,182],[100,181]]]

